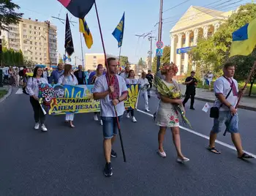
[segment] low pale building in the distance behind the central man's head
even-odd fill
[[[110,57],[116,58],[116,60],[118,61],[117,56],[107,54],[107,58],[110,58]],[[104,53],[86,53],[86,55],[85,55],[85,69],[86,70],[97,69],[98,64],[105,65]]]

